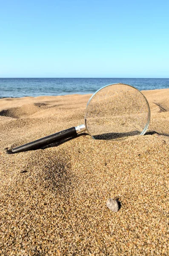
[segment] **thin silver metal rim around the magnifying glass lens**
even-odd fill
[[[117,85],[117,84],[123,84],[123,83],[116,83],[116,84],[108,84],[108,85],[105,85],[103,87],[101,87],[100,89],[98,89],[89,99],[89,101],[87,102],[87,105],[86,105],[86,110],[85,110],[85,116],[84,116],[84,122],[85,122],[85,128],[86,128],[86,131],[88,132],[88,134],[94,139],[95,137],[92,136],[92,134],[89,132],[88,128],[87,128],[87,120],[86,120],[86,113],[87,113],[87,107],[90,103],[90,101],[92,100],[92,98],[96,95],[96,93],[98,93],[100,90],[108,87],[108,86],[111,86],[111,85]],[[134,88],[135,90],[139,91],[139,93],[143,96],[143,98],[145,99],[146,101],[146,104],[147,104],[147,108],[148,108],[148,119],[147,119],[147,122],[146,122],[146,125],[145,125],[145,128],[143,129],[143,131],[140,133],[140,135],[144,135],[149,127],[149,123],[150,123],[150,117],[151,117],[151,112],[150,112],[150,106],[149,106],[149,102],[147,101],[146,97],[143,95],[142,92],[140,92],[140,90],[138,90],[137,88],[135,88],[134,86],[132,85],[129,85],[129,84],[123,84],[123,85],[126,85],[126,86],[129,86],[129,87],[132,87]]]

